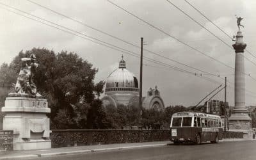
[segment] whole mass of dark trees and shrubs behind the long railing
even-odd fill
[[[10,65],[0,68],[0,85],[13,86],[20,71],[21,58],[35,54],[39,67],[35,73],[38,92],[49,102],[51,129],[124,129],[140,126],[160,129],[170,125],[170,116],[184,111],[170,106],[164,111],[140,109],[138,106],[102,106],[99,99],[104,82],[93,83],[97,68],[74,52],[56,54],[48,49],[19,52]],[[1,96],[10,92],[6,90]],[[3,101],[3,100],[2,100]],[[3,104],[1,105],[3,106]]]

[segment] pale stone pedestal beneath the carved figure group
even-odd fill
[[[46,99],[7,97],[2,111],[3,129],[13,130],[13,149],[31,150],[51,148],[51,113]]]

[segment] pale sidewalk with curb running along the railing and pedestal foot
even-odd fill
[[[85,154],[108,150],[122,150],[129,148],[160,147],[172,143],[171,141],[154,141],[145,143],[122,143],[111,145],[86,145],[77,147],[61,147],[44,150],[12,150],[0,151],[0,159],[28,159],[33,157],[60,156],[67,154]]]

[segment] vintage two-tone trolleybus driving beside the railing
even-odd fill
[[[171,120],[173,143],[203,141],[218,143],[222,139],[221,118],[218,115],[196,112],[174,113]]]

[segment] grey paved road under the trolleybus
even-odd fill
[[[229,141],[218,144],[167,145],[73,156],[41,157],[38,159],[256,159],[256,141]]]

